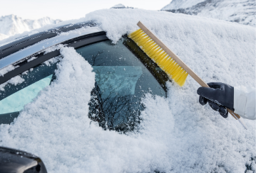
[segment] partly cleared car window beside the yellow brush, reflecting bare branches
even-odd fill
[[[104,129],[134,130],[140,123],[143,96],[147,93],[166,94],[164,84],[168,77],[163,77],[163,72],[153,62],[151,67],[145,67],[139,54],[146,55],[129,38],[124,37],[115,45],[106,40],[76,51],[96,72],[89,117]],[[163,85],[159,82],[161,80]]]

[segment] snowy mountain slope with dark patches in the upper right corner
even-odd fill
[[[173,0],[162,10],[255,26],[255,0]]]

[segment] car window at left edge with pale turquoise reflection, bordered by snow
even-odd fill
[[[19,111],[51,83],[55,69],[56,62],[42,64],[19,75],[24,79],[21,84],[6,84],[0,90],[0,124],[14,121]]]

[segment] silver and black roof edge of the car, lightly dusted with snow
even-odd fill
[[[57,28],[52,28],[50,30],[45,30],[40,33],[36,33],[33,35],[27,35],[24,38],[20,38],[19,40],[15,40],[14,42],[8,43],[6,45],[2,45],[0,47],[0,69],[3,69],[6,66],[12,65],[15,62],[19,62],[30,55],[35,54],[36,52],[40,52],[46,48],[49,48],[53,45],[57,45],[59,43],[63,43],[67,40],[71,40],[73,38],[77,38],[81,35],[86,35],[89,33],[97,32],[98,30],[83,30],[80,33],[73,34],[62,34],[71,30],[76,30],[80,28],[88,28],[97,26],[93,21],[86,21],[82,23],[75,24],[67,24],[64,26],[59,26]],[[47,42],[43,40],[46,40]],[[40,44],[36,44],[40,43]],[[36,44],[36,46],[35,46]],[[29,47],[29,48],[28,48]]]

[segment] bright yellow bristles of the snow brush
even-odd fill
[[[141,50],[148,55],[163,71],[178,85],[183,86],[188,73],[178,65],[158,44],[156,44],[142,29],[128,35]]]

